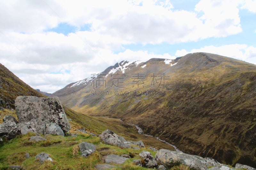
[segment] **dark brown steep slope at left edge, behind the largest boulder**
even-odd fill
[[[0,106],[14,109],[14,100],[17,96],[45,97],[0,64]]]

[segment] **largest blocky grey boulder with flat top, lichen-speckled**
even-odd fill
[[[64,133],[71,128],[58,97],[18,96],[15,109],[19,122],[29,122],[38,133],[46,134],[46,124],[50,123],[60,126]]]

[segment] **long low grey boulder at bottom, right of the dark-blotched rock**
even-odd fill
[[[183,152],[170,151],[160,149],[156,153],[156,161],[166,168],[171,168],[177,164],[184,164],[193,169],[208,169],[208,167],[218,166],[218,162],[214,159],[202,158],[196,155],[189,155]]]

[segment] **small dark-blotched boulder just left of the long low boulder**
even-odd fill
[[[142,151],[142,152],[140,152],[139,155],[141,158],[142,166],[145,166],[147,168],[157,167],[157,162],[150,152]]]

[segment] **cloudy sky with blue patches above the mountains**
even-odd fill
[[[194,52],[256,64],[256,0],[0,1],[0,63],[44,92]]]

